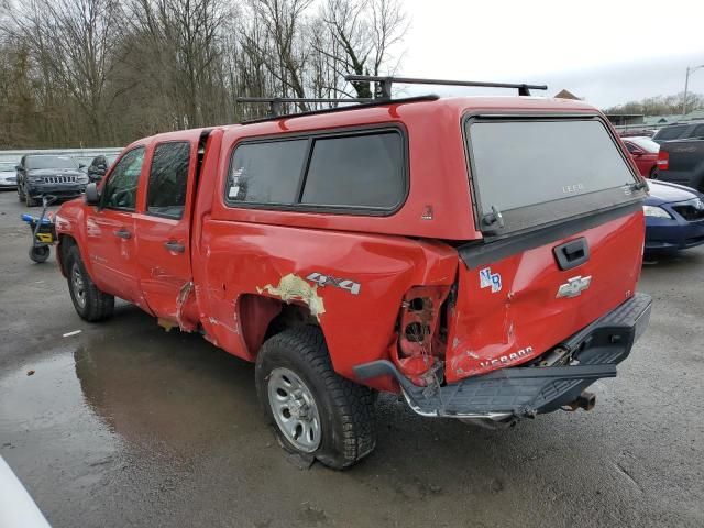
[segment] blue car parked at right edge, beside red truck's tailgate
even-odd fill
[[[683,185],[650,182],[646,198],[646,253],[704,244],[704,195]]]

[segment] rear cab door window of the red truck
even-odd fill
[[[162,143],[154,148],[146,210],[152,215],[182,218],[186,206],[190,143]]]

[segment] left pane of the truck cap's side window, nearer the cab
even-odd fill
[[[234,202],[285,204],[297,200],[308,140],[244,143],[234,150],[227,198]]]

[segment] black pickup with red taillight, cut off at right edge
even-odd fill
[[[704,140],[668,141],[657,163],[654,178],[704,191]]]

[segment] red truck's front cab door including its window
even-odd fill
[[[128,151],[110,173],[99,207],[86,207],[87,255],[98,287],[142,307],[136,274],[134,211],[144,146]]]

